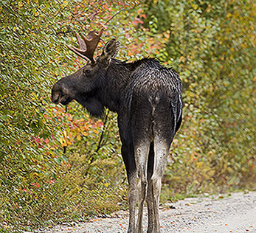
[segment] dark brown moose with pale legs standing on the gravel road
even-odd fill
[[[154,58],[131,63],[117,60],[120,43],[114,38],[94,58],[102,33],[103,30],[94,30],[87,36],[81,34],[80,38],[75,32],[79,48],[68,47],[87,63],[55,83],[52,102],[67,105],[76,100],[97,117],[105,108],[117,113],[128,177],[128,233],[142,233],[145,200],[148,233],[159,233],[162,175],[173,137],[181,125],[181,80],[173,69],[162,66]]]

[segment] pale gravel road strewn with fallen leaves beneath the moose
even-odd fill
[[[224,197],[224,198],[223,198]],[[231,196],[186,198],[160,206],[162,233],[256,233],[256,192]],[[128,229],[128,212],[115,212],[109,218],[94,218],[86,223],[66,223],[44,232],[122,233]],[[144,232],[147,229],[147,210]]]

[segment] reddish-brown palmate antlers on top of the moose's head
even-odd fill
[[[95,63],[95,60],[93,58],[94,51],[97,47],[97,44],[100,41],[100,36],[103,34],[103,29],[100,30],[100,32],[96,32],[95,30],[89,32],[87,37],[83,34],[82,38],[83,40],[79,37],[78,33],[75,32],[75,36],[77,38],[78,44],[79,44],[79,49],[75,48],[74,46],[67,46],[70,50],[75,52],[78,56],[81,58],[84,58],[86,60],[90,60],[91,63]]]

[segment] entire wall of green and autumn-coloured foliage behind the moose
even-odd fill
[[[161,202],[255,189],[255,1],[0,2],[0,231],[127,209],[117,114],[53,105],[53,83],[83,66],[75,31],[104,29],[117,58],[152,57],[183,83],[184,117]]]

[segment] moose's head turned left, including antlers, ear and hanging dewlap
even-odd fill
[[[55,83],[52,88],[52,102],[67,105],[72,100],[76,100],[92,115],[100,116],[103,113],[102,102],[97,100],[96,96],[106,82],[105,72],[108,70],[111,58],[117,55],[120,43],[115,39],[108,41],[103,47],[102,54],[94,59],[94,51],[102,33],[103,30],[99,33],[94,30],[89,32],[87,37],[81,34],[82,38],[80,38],[75,32],[79,48],[74,46],[68,48],[87,63],[74,74],[63,77]]]

